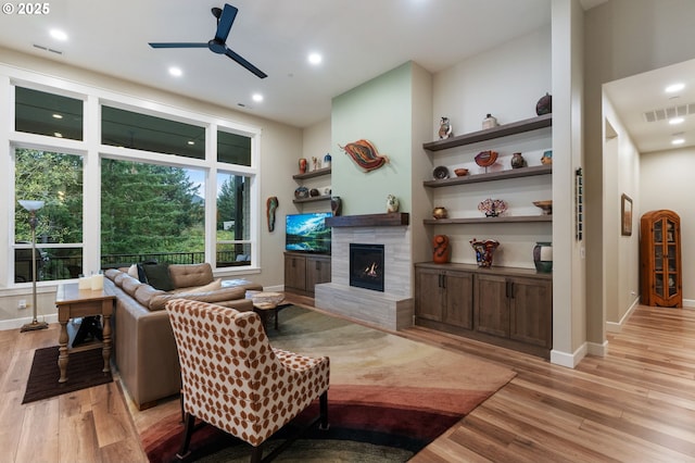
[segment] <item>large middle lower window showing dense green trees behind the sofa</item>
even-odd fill
[[[101,184],[102,267],[205,261],[203,171],[103,159]]]

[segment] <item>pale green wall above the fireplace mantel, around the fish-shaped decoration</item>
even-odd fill
[[[387,212],[388,195],[410,212],[413,63],[408,62],[332,100],[332,195],[343,215]],[[338,146],[367,139],[389,163],[364,172]]]

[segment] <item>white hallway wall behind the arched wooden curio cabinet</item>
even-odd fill
[[[641,203],[635,220],[658,209],[680,215],[683,305],[695,308],[695,148],[645,153],[640,159]]]

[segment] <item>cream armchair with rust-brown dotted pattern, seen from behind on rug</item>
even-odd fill
[[[321,428],[328,427],[329,359],[275,349],[254,312],[175,299],[166,304],[181,365],[186,458],[195,418],[253,446],[263,442],[316,398]],[[290,439],[291,440],[291,439]],[[289,442],[288,442],[289,445]],[[285,447],[268,455],[274,458]]]

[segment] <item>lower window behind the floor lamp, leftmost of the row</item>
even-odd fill
[[[15,150],[15,199],[43,201],[36,213],[37,281],[83,273],[83,160],[79,155]],[[31,281],[29,213],[14,214],[14,281]]]

